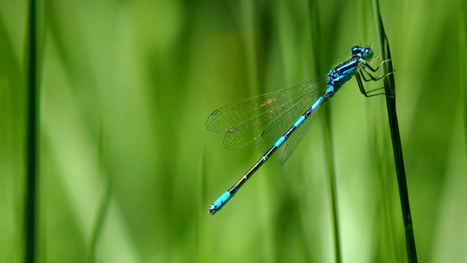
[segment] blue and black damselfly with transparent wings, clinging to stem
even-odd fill
[[[379,55],[371,62],[367,62],[373,57],[373,49],[370,47],[355,46],[350,50],[350,54],[351,58],[331,69],[322,78],[306,80],[288,89],[249,98],[224,106],[211,113],[206,127],[210,131],[226,132],[225,148],[242,149],[259,145],[260,150],[267,151],[232,188],[222,194],[209,207],[210,214],[216,213],[268,160],[271,154],[288,139],[280,159],[280,164],[283,165],[302,140],[320,106],[334,96],[352,76],[356,76],[360,92],[366,97],[383,94],[375,93],[382,88],[365,91],[362,79],[376,81],[394,73],[393,71],[375,77],[368,71],[376,72],[384,62],[389,60],[382,61],[374,69],[371,64]],[[366,78],[365,75],[369,78]],[[289,129],[286,130],[287,128]],[[291,136],[293,132],[296,133]],[[270,147],[271,145],[272,147]]]

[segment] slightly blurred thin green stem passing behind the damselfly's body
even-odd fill
[[[321,39],[320,25],[318,17],[317,3],[314,0],[308,1],[310,14],[310,34],[311,45],[313,48],[313,61],[315,75],[323,75],[323,66],[321,64],[321,46],[318,39]],[[332,226],[334,232],[334,254],[336,263],[341,263],[341,239],[339,234],[339,215],[337,211],[337,191],[336,191],[336,169],[334,162],[334,144],[332,140],[332,125],[331,125],[331,109],[325,104],[323,105],[323,134],[324,134],[324,150],[326,152],[326,164],[329,177],[329,193],[331,198]]]

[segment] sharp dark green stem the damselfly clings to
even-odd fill
[[[375,23],[381,59],[391,59],[388,38],[386,37],[386,34],[384,32],[383,21],[381,19],[381,14],[379,13],[379,0],[373,0],[373,11],[375,14]],[[382,68],[384,74],[393,71],[393,65],[391,61],[389,61],[389,63],[387,64],[383,63]],[[402,220],[404,222],[405,228],[407,258],[410,263],[413,263],[417,262],[417,253],[415,249],[415,239],[413,237],[412,216],[410,213],[409,193],[407,190],[404,159],[402,157],[402,146],[400,142],[399,125],[397,123],[397,113],[395,111],[394,74],[384,78],[384,91],[386,93],[386,107],[388,110],[389,129],[391,132],[391,141],[393,144],[397,185],[399,187],[399,198],[402,209]]]

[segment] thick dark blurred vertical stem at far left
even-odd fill
[[[26,41],[26,180],[24,190],[24,262],[36,262],[37,188],[39,176],[39,91],[37,81],[37,1],[29,1]]]

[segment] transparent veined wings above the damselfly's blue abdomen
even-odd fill
[[[264,137],[266,127],[280,131],[272,123],[281,120],[278,124],[282,127],[282,121],[285,123],[293,114],[298,118],[297,109],[309,103],[324,82],[325,78],[306,80],[285,90],[224,106],[209,116],[206,127],[210,131],[226,132],[224,147],[227,149],[251,147],[259,143],[260,134]]]

